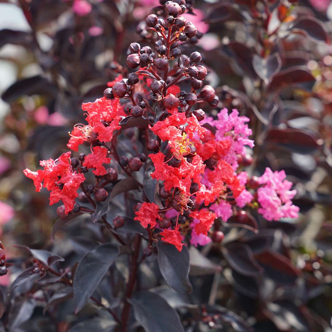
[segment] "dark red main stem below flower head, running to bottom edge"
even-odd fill
[[[138,265],[139,265],[137,260],[138,260],[138,255],[139,255],[139,249],[141,246],[141,241],[142,241],[142,236],[137,234],[135,249],[134,249],[133,258],[132,258],[132,262],[131,262],[131,264],[133,264],[133,268],[130,271],[128,286],[127,286],[125,299],[124,299],[124,309],[123,309],[122,316],[121,316],[122,332],[127,331],[127,322],[128,322],[128,318],[129,318],[129,309],[130,309],[130,303],[128,302],[128,298],[131,297],[132,292],[135,287],[137,269],[138,269]]]

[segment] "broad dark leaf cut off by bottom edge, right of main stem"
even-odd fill
[[[139,291],[129,302],[146,332],[184,332],[178,313],[158,294]]]

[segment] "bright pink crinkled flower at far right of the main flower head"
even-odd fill
[[[270,168],[266,168],[258,180],[264,185],[257,190],[258,202],[261,205],[258,213],[269,221],[298,217],[299,208],[291,201],[296,190],[290,190],[293,184],[285,178],[285,171],[273,173]]]

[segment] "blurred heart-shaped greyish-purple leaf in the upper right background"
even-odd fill
[[[254,54],[252,59],[253,67],[257,75],[267,84],[281,69],[282,61],[278,53],[261,58],[258,54]]]

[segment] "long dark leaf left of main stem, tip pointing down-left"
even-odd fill
[[[118,257],[119,248],[103,243],[87,252],[79,261],[74,275],[74,307],[79,312]]]

